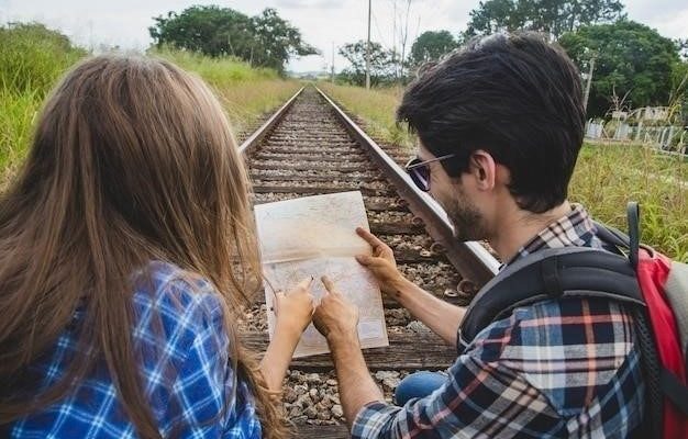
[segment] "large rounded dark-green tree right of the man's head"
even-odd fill
[[[580,27],[558,43],[581,71],[596,58],[588,114],[604,115],[614,95],[626,95],[634,108],[666,105],[678,47],[655,30],[633,21]]]

